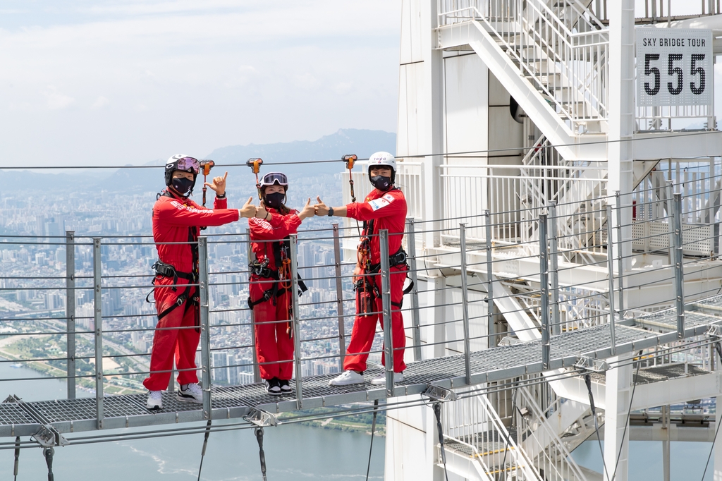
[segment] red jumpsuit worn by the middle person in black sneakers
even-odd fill
[[[288,215],[282,215],[270,207],[266,209],[271,213],[268,221],[256,217],[248,220],[251,241],[279,241],[287,235],[297,232],[298,226],[301,224],[297,211],[292,210]],[[256,260],[263,263],[268,259],[266,267],[272,271],[278,270],[274,257],[275,244],[277,242],[253,242],[251,244],[253,253],[256,254]],[[255,302],[263,298],[264,292],[273,287],[273,279],[252,274],[249,288],[251,301]],[[281,289],[280,285],[279,289]],[[285,291],[253,306],[253,321],[256,326],[256,355],[261,378],[288,380],[293,373],[293,339],[286,332],[288,323],[275,321],[290,319],[288,316],[292,302],[290,296],[294,294]],[[288,362],[279,363],[278,361]]]

